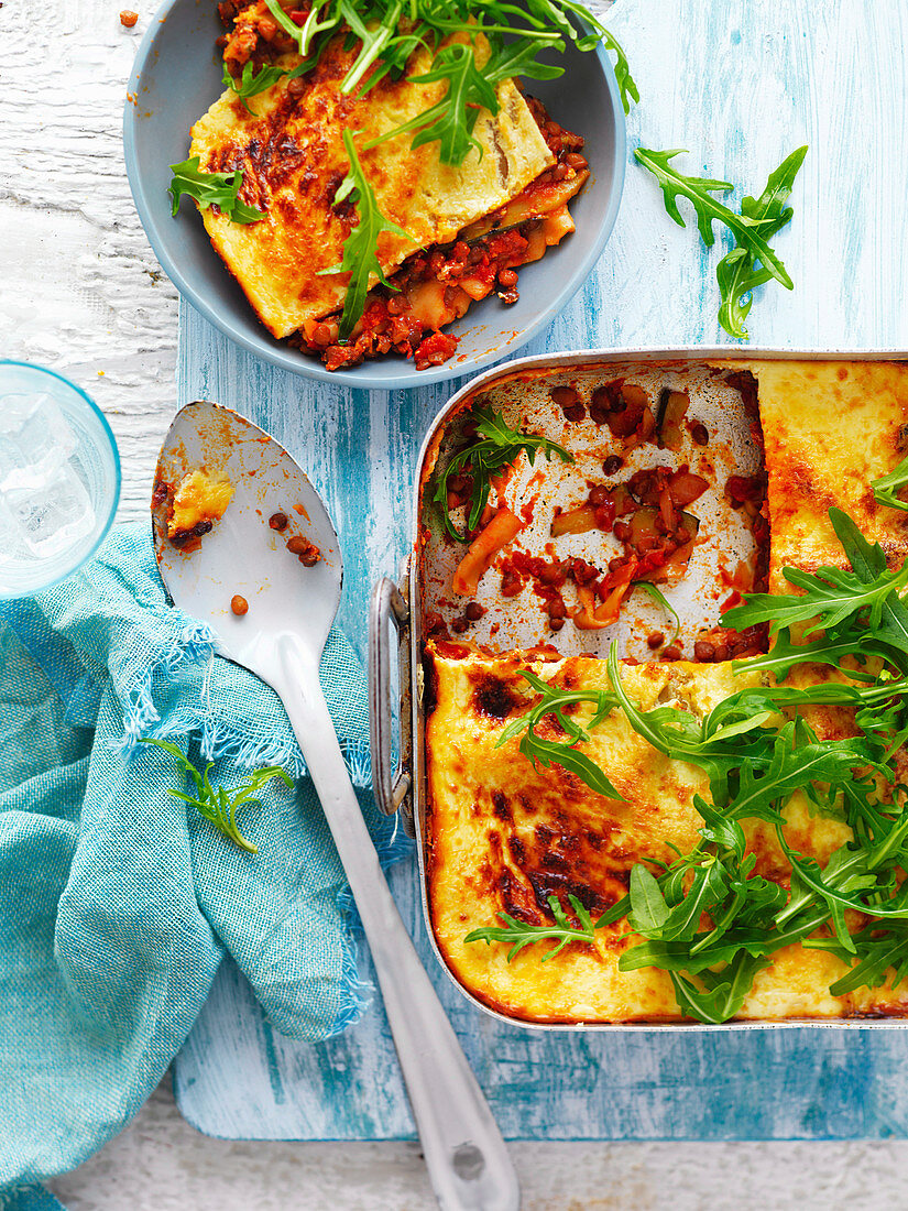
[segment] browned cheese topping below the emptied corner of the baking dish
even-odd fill
[[[619,971],[623,951],[639,941],[636,935],[622,940],[626,920],[598,930],[594,945],[571,945],[547,962],[547,945],[527,947],[508,963],[507,945],[467,945],[464,937],[495,923],[500,911],[541,923],[539,903],[554,894],[579,896],[593,917],[610,907],[626,893],[637,861],[671,862],[673,845],[690,850],[702,826],[694,794],[709,800],[706,775],[656,752],[617,711],[596,728],[585,751],[623,803],[596,794],[561,767],[535,769],[517,739],[498,747],[508,718],[525,707],[519,668],[531,667],[573,689],[608,689],[604,661],[534,662],[519,653],[448,659],[437,652],[430,652],[430,661],[436,706],[426,725],[429,896],[438,946],[456,978],[485,1004],[527,1021],[680,1020],[665,971]],[[730,664],[637,665],[625,667],[622,676],[644,710],[671,704],[696,716],[758,683],[757,673],[735,676]],[[582,706],[577,721],[591,710]],[[841,708],[814,708],[809,722],[822,736],[852,734]],[[551,719],[540,725],[541,735]],[[556,739],[554,731],[548,735]],[[800,793],[786,817],[789,844],[820,862],[850,836],[844,823],[811,815]],[[782,882],[789,867],[774,830],[762,822],[743,827],[757,872]],[[846,970],[826,952],[788,947],[757,975],[739,1016],[774,1021],[908,1014],[904,986],[895,993],[883,987],[831,995],[829,985]]]

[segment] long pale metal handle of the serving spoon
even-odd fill
[[[517,1211],[511,1158],[379,865],[318,668],[295,643],[276,685],[318,792],[372,949],[429,1176],[443,1211]]]

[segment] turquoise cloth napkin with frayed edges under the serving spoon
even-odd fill
[[[114,530],[75,576],[0,602],[0,1209],[24,1211],[10,1183],[75,1167],[138,1110],[225,951],[292,1038],[328,1038],[364,1006],[340,863],[283,707],[168,607],[149,529]],[[338,631],[322,684],[366,787],[366,682]],[[185,788],[173,759],[140,736],[213,761],[226,787],[266,764],[295,776],[241,809],[258,855],[166,793]],[[383,860],[404,853],[361,800]]]

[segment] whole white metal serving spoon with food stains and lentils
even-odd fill
[[[344,570],[331,518],[274,438],[207,401],[177,413],[155,484],[177,484],[197,467],[228,478],[235,494],[201,547],[186,553],[168,541],[156,493],[161,578],[182,610],[217,632],[219,652],[268,682],[287,710],[360,909],[439,1206],[517,1211],[507,1148],[391,897],[318,682]],[[283,534],[269,527],[277,512],[289,518]],[[289,534],[320,549],[315,567],[287,550]],[[232,613],[234,596],[246,598],[248,613]]]

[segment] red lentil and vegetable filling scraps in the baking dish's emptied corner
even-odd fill
[[[758,460],[758,466],[748,474],[735,470],[724,478],[717,474],[717,465],[720,460],[729,465],[730,450],[690,415],[686,392],[669,389],[654,392],[651,386],[644,390],[630,378],[605,379],[592,389],[587,402],[576,389],[553,389],[552,403],[561,409],[567,425],[593,421],[609,453],[593,474],[585,466],[585,498],[554,506],[542,550],[539,534],[527,538],[527,533],[544,490],[535,481],[539,478],[544,484],[546,472],[540,470],[530,480],[534,495],[527,503],[525,493],[521,497],[510,488],[517,472],[515,463],[500,467],[489,482],[488,503],[478,524],[467,527],[469,546],[452,578],[453,593],[477,598],[483,578],[495,569],[500,574],[501,598],[521,596],[529,608],[535,606],[545,614],[552,635],[565,625],[586,632],[605,631],[619,620],[636,587],[653,586],[650,592],[655,590],[661,598],[686,578],[694,551],[705,540],[703,498],[711,490],[713,498],[722,493],[725,517],[737,515],[742,530],[749,530],[752,545],[751,557],[736,563],[725,558],[722,550],[718,552],[724,590],[722,612],[740,604],[742,592],[764,591],[769,524],[754,381],[752,375],[741,373],[724,375],[723,380],[740,396],[749,425],[751,450]],[[449,512],[470,513],[470,500],[477,490],[470,452],[482,449],[487,442],[484,432],[477,431],[470,419],[462,426],[465,444],[454,448],[453,458],[466,459],[464,470],[444,478]],[[634,463],[628,466],[632,454]],[[714,517],[707,521],[713,540],[720,523]],[[571,553],[573,539],[581,534],[592,539],[584,556]],[[449,540],[454,545],[450,533]],[[529,598],[523,595],[528,585],[531,585]],[[433,616],[429,620],[429,633],[436,638],[450,637],[452,632],[465,635],[484,614],[484,609],[467,608],[449,622]],[[682,639],[676,635],[669,642],[665,631],[651,631],[646,638],[649,653],[661,660],[713,662],[765,652],[768,627],[736,631],[719,621],[702,627],[695,638]]]

